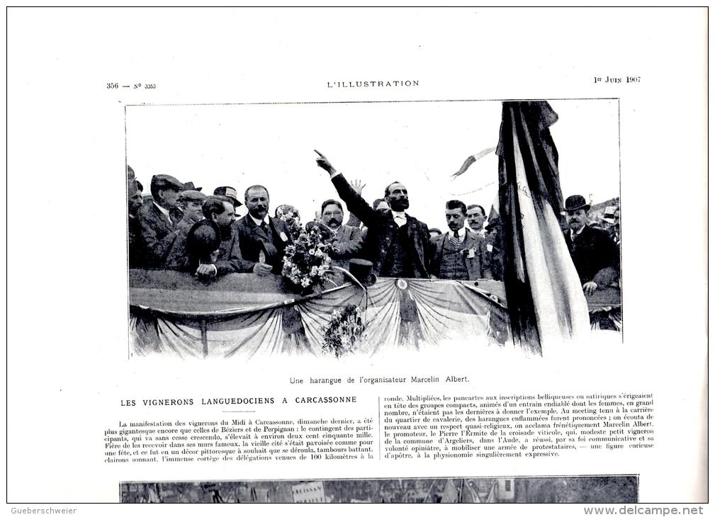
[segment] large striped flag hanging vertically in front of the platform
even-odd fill
[[[586,298],[557,219],[563,198],[549,131],[557,119],[548,102],[504,102],[497,149],[511,330],[516,343],[539,354],[589,332]]]

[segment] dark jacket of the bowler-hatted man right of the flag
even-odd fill
[[[606,232],[586,226],[574,240],[571,230],[563,232],[563,237],[582,284],[596,282],[598,287],[606,287],[618,280],[620,254]]]

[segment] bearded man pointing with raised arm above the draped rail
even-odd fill
[[[316,151],[317,152],[317,151]],[[373,209],[355,192],[347,179],[337,172],[325,156],[320,154],[317,165],[330,174],[340,199],[368,227],[363,244],[363,255],[373,262],[374,271],[381,277],[429,278],[430,232],[424,222],[407,215],[410,207],[407,188],[393,182],[385,188],[388,212]]]

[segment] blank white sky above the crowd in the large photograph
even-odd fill
[[[561,100],[551,106],[564,197],[619,195],[618,102]],[[271,213],[295,205],[311,220],[320,203],[337,197],[315,165],[313,149],[347,179],[382,197],[385,186],[408,188],[410,215],[445,227],[445,201],[483,205],[495,200],[498,159],[490,153],[458,179],[464,159],[495,147],[501,102],[355,102],[127,107],[127,162],[148,192],[152,174],[192,181],[203,192],[231,185],[242,192],[264,184]],[[346,219],[347,220],[347,219]]]

